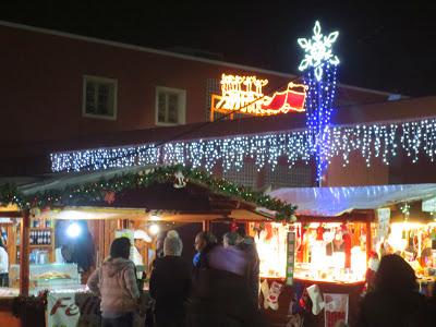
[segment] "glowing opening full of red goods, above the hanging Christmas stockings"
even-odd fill
[[[359,222],[252,223],[261,277],[286,277],[287,233],[295,239],[294,278],[334,283],[365,280],[366,231]]]

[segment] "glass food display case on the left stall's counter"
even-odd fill
[[[31,291],[78,288],[81,276],[76,264],[45,264],[29,266]],[[12,288],[20,288],[20,265],[11,265],[9,271]]]

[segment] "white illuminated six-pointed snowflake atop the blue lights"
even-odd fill
[[[323,77],[323,63],[326,61],[332,65],[339,64],[339,58],[331,53],[331,46],[339,36],[339,32],[332,32],[328,36],[320,33],[319,22],[315,22],[314,35],[312,39],[304,37],[299,38],[300,47],[306,52],[304,59],[299,65],[300,71],[304,71],[308,66],[315,68],[315,77],[320,81]]]

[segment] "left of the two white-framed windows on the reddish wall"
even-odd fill
[[[117,119],[117,80],[83,77],[82,114],[90,118]]]

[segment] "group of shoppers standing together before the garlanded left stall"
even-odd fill
[[[102,326],[264,326],[257,308],[259,259],[253,238],[234,231],[222,244],[211,232],[199,232],[192,263],[182,258],[177,231],[157,238],[156,258],[149,278],[153,305],[145,308],[136,284],[135,266],[129,259],[130,240],[116,239],[110,256],[88,279],[88,288],[101,298]]]

